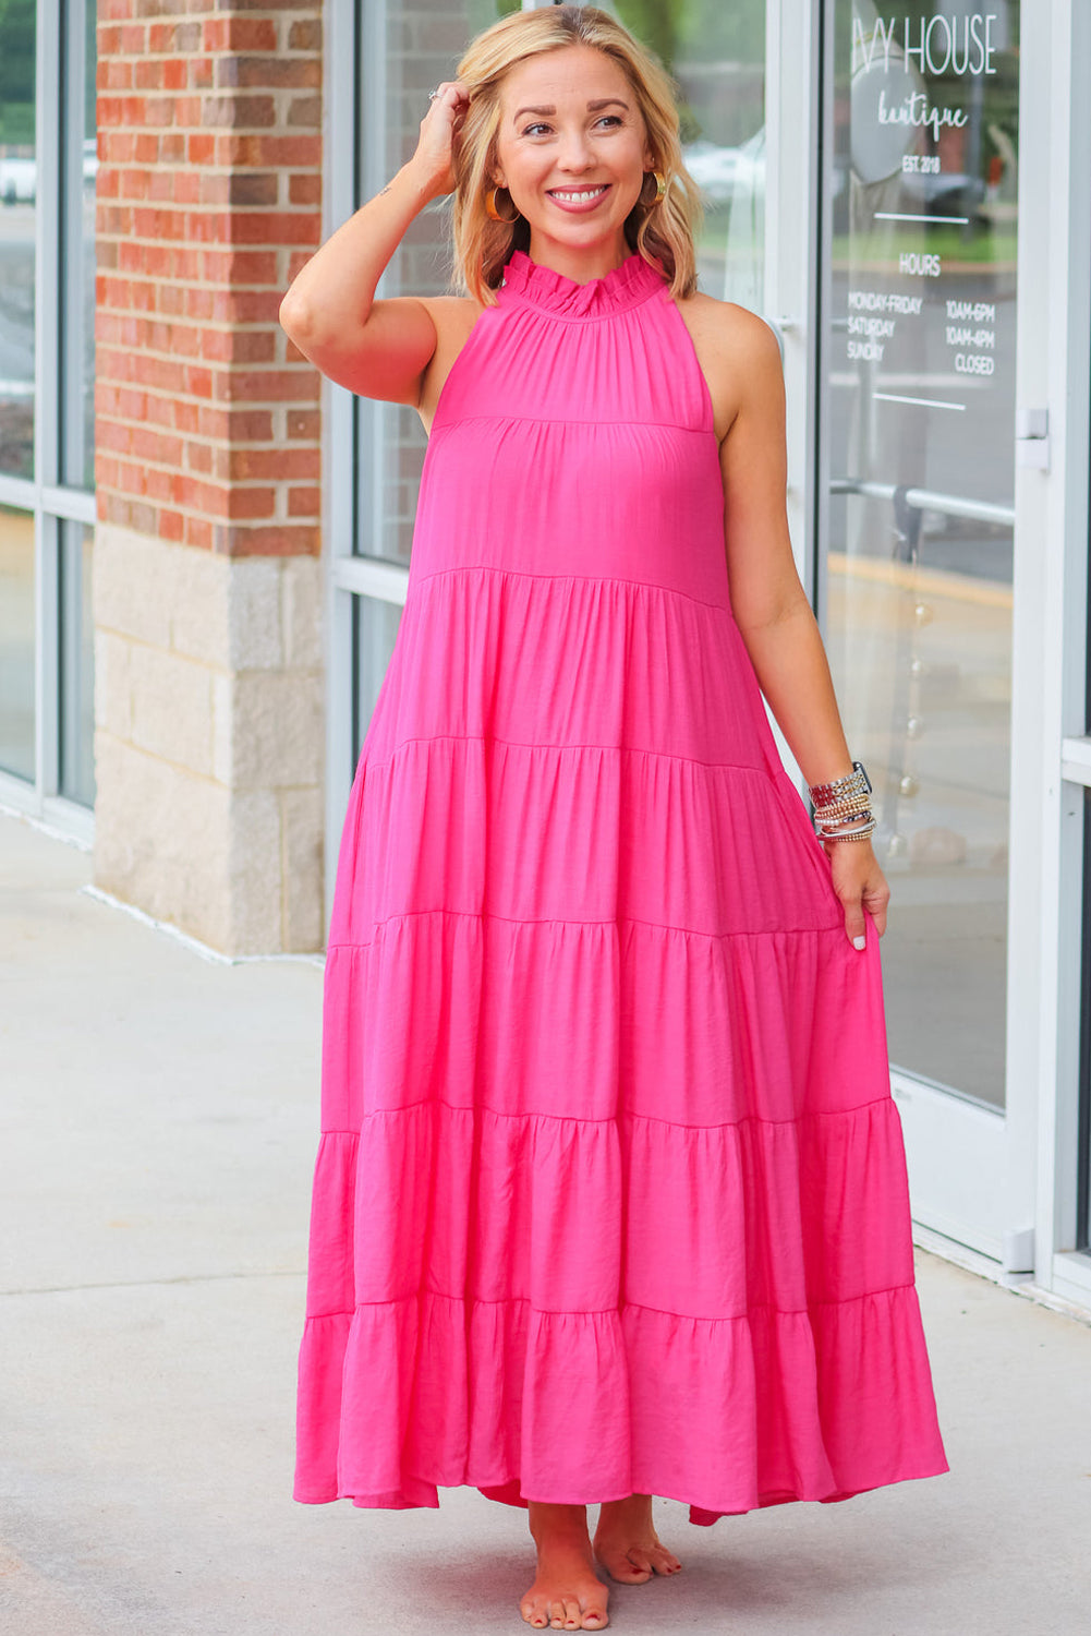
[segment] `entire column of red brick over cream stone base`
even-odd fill
[[[98,0],[95,880],[322,942],[321,0]]]

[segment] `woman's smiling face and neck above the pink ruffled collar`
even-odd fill
[[[625,260],[625,218],[653,164],[636,95],[605,52],[564,46],[505,75],[494,182],[530,222],[532,260],[558,272]]]

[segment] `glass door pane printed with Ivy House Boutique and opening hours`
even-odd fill
[[[1019,5],[998,0],[988,31],[977,15],[834,7],[824,543],[829,658],[893,890],[891,1060],[999,1104]]]

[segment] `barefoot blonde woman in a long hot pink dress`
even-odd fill
[[[451,191],[465,294],[375,301]],[[712,1523],[947,1469],[869,785],[777,342],[695,291],[695,219],[661,67],[517,13],[281,309],[430,432],[337,869],[294,1497],[527,1505],[556,1629],[607,1625],[595,1566],[679,1569],[654,1494]]]

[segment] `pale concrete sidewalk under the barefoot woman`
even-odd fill
[[[291,1500],[319,964],[201,959],[90,874],[0,816],[0,1631],[528,1629],[522,1512]],[[612,1585],[612,1629],[1091,1629],[1091,1327],[918,1281],[950,1472],[708,1530],[661,1500],[684,1572]]]

